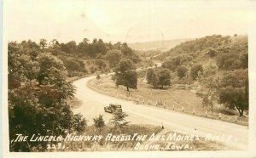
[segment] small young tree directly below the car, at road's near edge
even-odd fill
[[[113,114],[113,118],[111,119],[111,122],[113,123],[113,129],[114,130],[120,130],[126,127],[130,121],[125,121],[125,117],[128,115],[125,112],[115,112]]]

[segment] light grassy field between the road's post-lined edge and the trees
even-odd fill
[[[116,87],[111,76],[102,76],[100,80],[90,80],[88,86],[99,93],[104,93],[120,99],[132,100],[137,104],[150,104],[166,110],[176,110],[195,116],[220,119],[241,125],[248,125],[247,117],[238,117],[236,110],[228,110],[220,104],[213,105],[213,113],[201,104],[195,90],[169,87],[168,89],[153,89],[143,78],[138,79],[137,90],[126,91],[126,87]],[[219,118],[220,116],[220,118]]]

